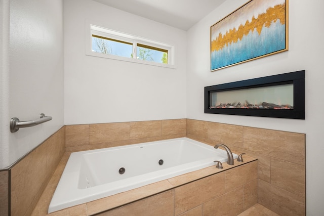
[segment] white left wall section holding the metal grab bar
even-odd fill
[[[2,2],[0,169],[63,126],[63,1]],[[53,120],[10,132],[10,118]]]

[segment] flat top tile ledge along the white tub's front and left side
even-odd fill
[[[236,153],[236,152],[233,152]],[[187,183],[203,179],[205,177],[214,175],[218,172],[225,171],[227,169],[231,169],[251,161],[257,160],[256,158],[250,157],[248,155],[244,155],[244,162],[237,162],[234,160],[234,165],[228,165],[227,163],[223,163],[223,169],[216,168],[216,165],[209,166],[203,169],[199,169],[196,171],[189,172],[187,174],[177,176],[174,178],[170,178],[167,180],[159,181],[150,185],[146,185],[140,188],[136,188],[130,191],[122,192],[119,194],[115,194],[112,196],[108,196],[105,198],[101,198],[98,200],[94,200],[91,202],[83,203],[80,205],[72,206],[69,208],[65,208],[59,211],[52,212],[50,214],[47,213],[49,204],[51,202],[52,196],[55,192],[56,186],[60,180],[64,167],[69,158],[70,152],[66,152],[62,157],[58,167],[56,168],[54,175],[49,181],[46,189],[43,194],[39,198],[38,203],[36,204],[31,215],[93,215],[99,212],[103,212],[109,209],[113,209],[119,206],[123,206],[128,203],[135,202],[137,200],[150,197],[152,195],[179,187],[181,185],[185,185]]]

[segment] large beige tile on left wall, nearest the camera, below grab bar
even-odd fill
[[[24,215],[47,178],[47,148],[40,145],[11,169],[11,215]]]

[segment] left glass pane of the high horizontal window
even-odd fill
[[[133,57],[133,45],[129,42],[92,35],[92,51],[115,56]]]

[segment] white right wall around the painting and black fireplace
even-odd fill
[[[306,211],[324,212],[324,120],[322,61],[324,59],[323,1],[290,1],[289,51],[210,72],[210,26],[244,5],[226,1],[187,34],[187,118],[278,129],[306,134]],[[204,114],[204,87],[267,75],[306,70],[306,120]]]

